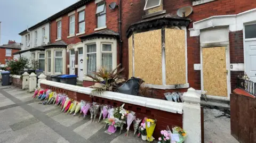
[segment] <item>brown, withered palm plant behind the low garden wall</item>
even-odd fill
[[[94,92],[101,94],[103,91],[116,91],[117,87],[125,82],[124,76],[121,74],[124,68],[118,70],[120,66],[121,64],[112,71],[108,70],[105,66],[101,66],[97,71],[92,72],[93,75],[86,75],[94,81],[101,83],[101,87],[95,87],[91,95],[93,95]]]

